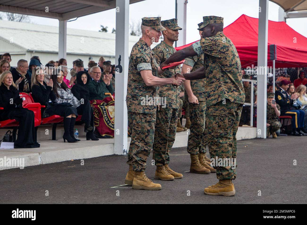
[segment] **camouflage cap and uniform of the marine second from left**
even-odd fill
[[[171,30],[182,30],[177,24],[177,19],[161,21],[161,25]],[[164,39],[165,35],[163,34]],[[164,62],[176,50],[165,41],[161,41],[153,48],[157,65]],[[159,75],[161,78],[173,77],[176,73],[181,73],[180,66],[175,69],[165,69]],[[169,164],[169,151],[172,149],[177,128],[177,115],[180,105],[180,87],[172,84],[159,87],[159,97],[166,99],[166,105],[157,107],[156,125],[153,139],[153,160],[156,166]]]

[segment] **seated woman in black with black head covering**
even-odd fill
[[[86,71],[80,71],[76,76],[76,84],[72,87],[72,94],[79,100],[83,101],[84,104],[89,102],[90,92],[87,89],[87,83],[90,82],[90,75]],[[91,110],[91,126],[94,127],[94,112],[93,108]],[[95,137],[94,130],[91,130],[86,133],[86,140],[98,141],[99,139]]]

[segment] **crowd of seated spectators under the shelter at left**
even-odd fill
[[[85,70],[83,61],[77,59],[70,71],[71,78],[67,79],[68,67],[64,58],[51,60],[43,66],[40,58],[33,56],[29,62],[19,59],[16,67],[10,66],[9,53],[2,54],[0,59],[0,107],[3,108],[0,110],[0,120],[15,119],[19,122],[15,148],[40,147],[34,141],[34,112],[22,107],[23,99],[19,92],[31,93],[34,102],[45,106],[41,108],[42,118],[52,115],[63,117],[64,142],[80,141],[74,136],[78,115],[84,122],[86,140],[104,138],[100,133],[94,133],[94,107],[90,101],[109,97],[105,93],[114,94],[115,82],[112,83],[114,76],[110,61],[105,61],[103,57],[99,58],[99,64],[91,60],[88,70]],[[105,69],[103,75],[101,69]]]

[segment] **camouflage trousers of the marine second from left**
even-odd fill
[[[157,110],[157,119],[153,139],[153,160],[156,166],[169,163],[169,151],[172,149],[177,129],[178,109],[162,108]]]

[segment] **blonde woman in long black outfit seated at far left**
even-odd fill
[[[22,107],[22,99],[15,87],[12,73],[8,70],[0,78],[0,119],[15,119],[19,122],[14,148],[39,148],[34,141],[34,112]],[[13,99],[13,102],[12,102]]]

